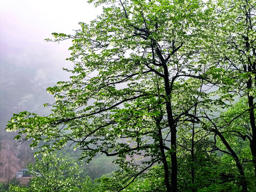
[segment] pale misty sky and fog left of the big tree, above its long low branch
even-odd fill
[[[70,42],[45,42],[51,33],[74,33],[78,22],[101,12],[84,0],[0,0],[0,121],[20,110],[40,108],[46,87],[67,80]],[[46,96],[45,96],[46,95]],[[3,125],[3,124],[2,124]]]

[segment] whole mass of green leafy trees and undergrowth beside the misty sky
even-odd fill
[[[74,63],[49,113],[6,126],[36,159],[6,190],[256,191],[256,1],[89,2],[97,19],[46,39]],[[90,177],[99,158],[116,166]]]

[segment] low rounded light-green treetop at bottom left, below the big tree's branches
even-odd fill
[[[36,157],[28,170],[33,175],[29,183],[32,191],[90,191],[92,188],[90,177],[83,173],[79,163],[61,154]]]

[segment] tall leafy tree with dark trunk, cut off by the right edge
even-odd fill
[[[222,68],[219,79],[220,97],[232,100],[246,97],[247,105],[243,113],[250,118],[248,133],[237,133],[250,141],[252,161],[256,177],[256,123],[255,123],[255,1],[213,1],[218,27],[215,33],[215,46],[212,49],[212,63]],[[238,118],[237,114],[233,118]],[[227,123],[228,124],[228,123]]]

